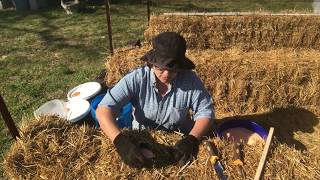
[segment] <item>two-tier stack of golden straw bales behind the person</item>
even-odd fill
[[[187,39],[187,56],[218,116],[275,107],[301,107],[319,116],[319,27],[318,16],[152,16],[142,48],[118,49],[107,59],[106,81],[114,85],[142,65],[139,58],[154,36],[175,31]]]

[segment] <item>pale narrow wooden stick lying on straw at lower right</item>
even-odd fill
[[[263,152],[262,152],[262,156],[260,158],[260,162],[259,162],[259,165],[258,165],[258,168],[257,168],[257,171],[256,171],[256,175],[254,176],[254,180],[260,180],[260,178],[261,178],[261,174],[262,174],[264,165],[266,163],[266,159],[267,159],[267,155],[268,155],[268,152],[269,152],[271,140],[272,140],[272,137],[273,137],[273,131],[274,131],[274,128],[271,127],[269,129],[269,134],[268,134],[268,137],[267,137],[267,141],[266,141],[266,144],[264,145],[264,149],[263,149]]]

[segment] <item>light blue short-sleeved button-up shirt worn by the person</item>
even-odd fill
[[[213,119],[212,99],[203,83],[191,70],[179,72],[167,94],[161,98],[153,69],[140,67],[123,77],[110,89],[99,106],[119,114],[131,102],[133,129],[152,128],[188,133],[199,118]],[[189,110],[192,110],[192,119]],[[135,122],[136,121],[136,122]]]

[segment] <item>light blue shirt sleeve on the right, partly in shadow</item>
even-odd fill
[[[193,119],[197,120],[199,118],[214,118],[214,108],[213,101],[205,89],[202,81],[195,75],[193,81],[194,92],[192,93],[192,110]]]

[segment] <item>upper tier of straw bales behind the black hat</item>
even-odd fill
[[[320,49],[319,16],[151,16],[144,33],[150,41],[160,32],[182,34],[190,48],[245,50],[274,48]]]

